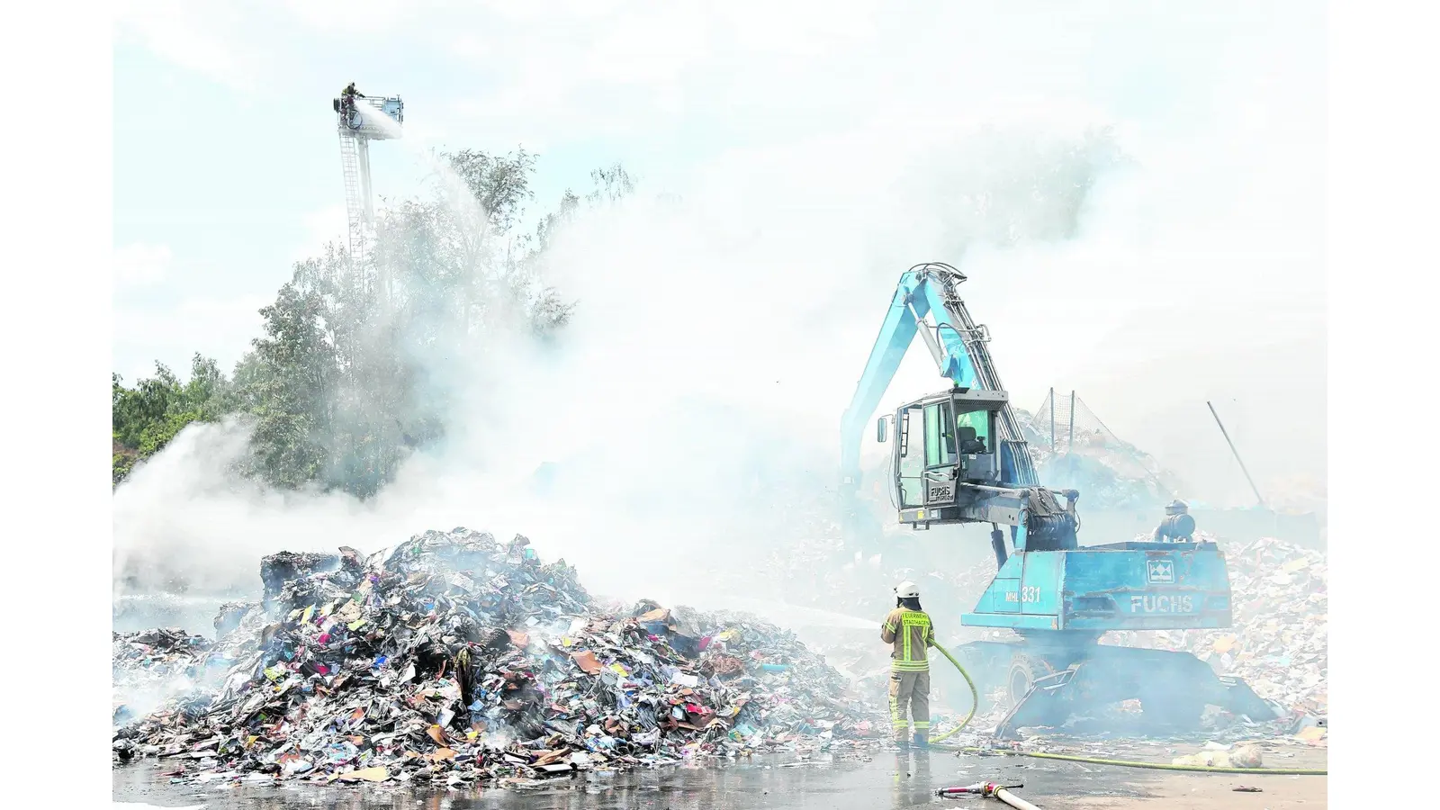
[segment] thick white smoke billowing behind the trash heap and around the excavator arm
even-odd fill
[[[1261,484],[1323,468],[1323,17],[953,14],[963,25],[896,23],[899,49],[841,26],[783,75],[755,59],[707,76],[697,115],[723,118],[720,144],[752,146],[642,179],[556,238],[543,280],[576,310],[553,346],[494,331],[428,359],[455,392],[444,444],[361,504],[236,483],[225,468],[245,428],[193,425],[117,490],[117,571],[253,588],[258,558],[281,548],[372,551],[465,525],[523,532],[598,591],[694,601],[710,572],[824,532],[809,519],[831,515],[838,417],[896,278],[932,259],[969,275],[960,294],[1017,405],[1076,388],[1224,502],[1247,493],[1204,401],[1228,422],[1244,395],[1253,414],[1234,430]],[[812,27],[737,30],[773,36],[773,58],[791,23]],[[1104,53],[1071,56],[1074,40]],[[724,63],[724,43],[708,46],[685,56]],[[534,65],[596,56],[503,48]],[[505,131],[629,114],[606,94],[541,110],[562,97],[523,89],[505,92]],[[775,110],[827,134],[773,127]],[[937,385],[913,349],[883,406]],[[870,461],[888,447],[865,440]]]

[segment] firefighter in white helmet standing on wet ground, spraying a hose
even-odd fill
[[[894,741],[904,748],[910,722],[914,721],[914,745],[930,744],[930,647],[935,626],[920,610],[920,588],[914,582],[896,585],[896,610],[880,626],[880,640],[890,651],[890,726]]]

